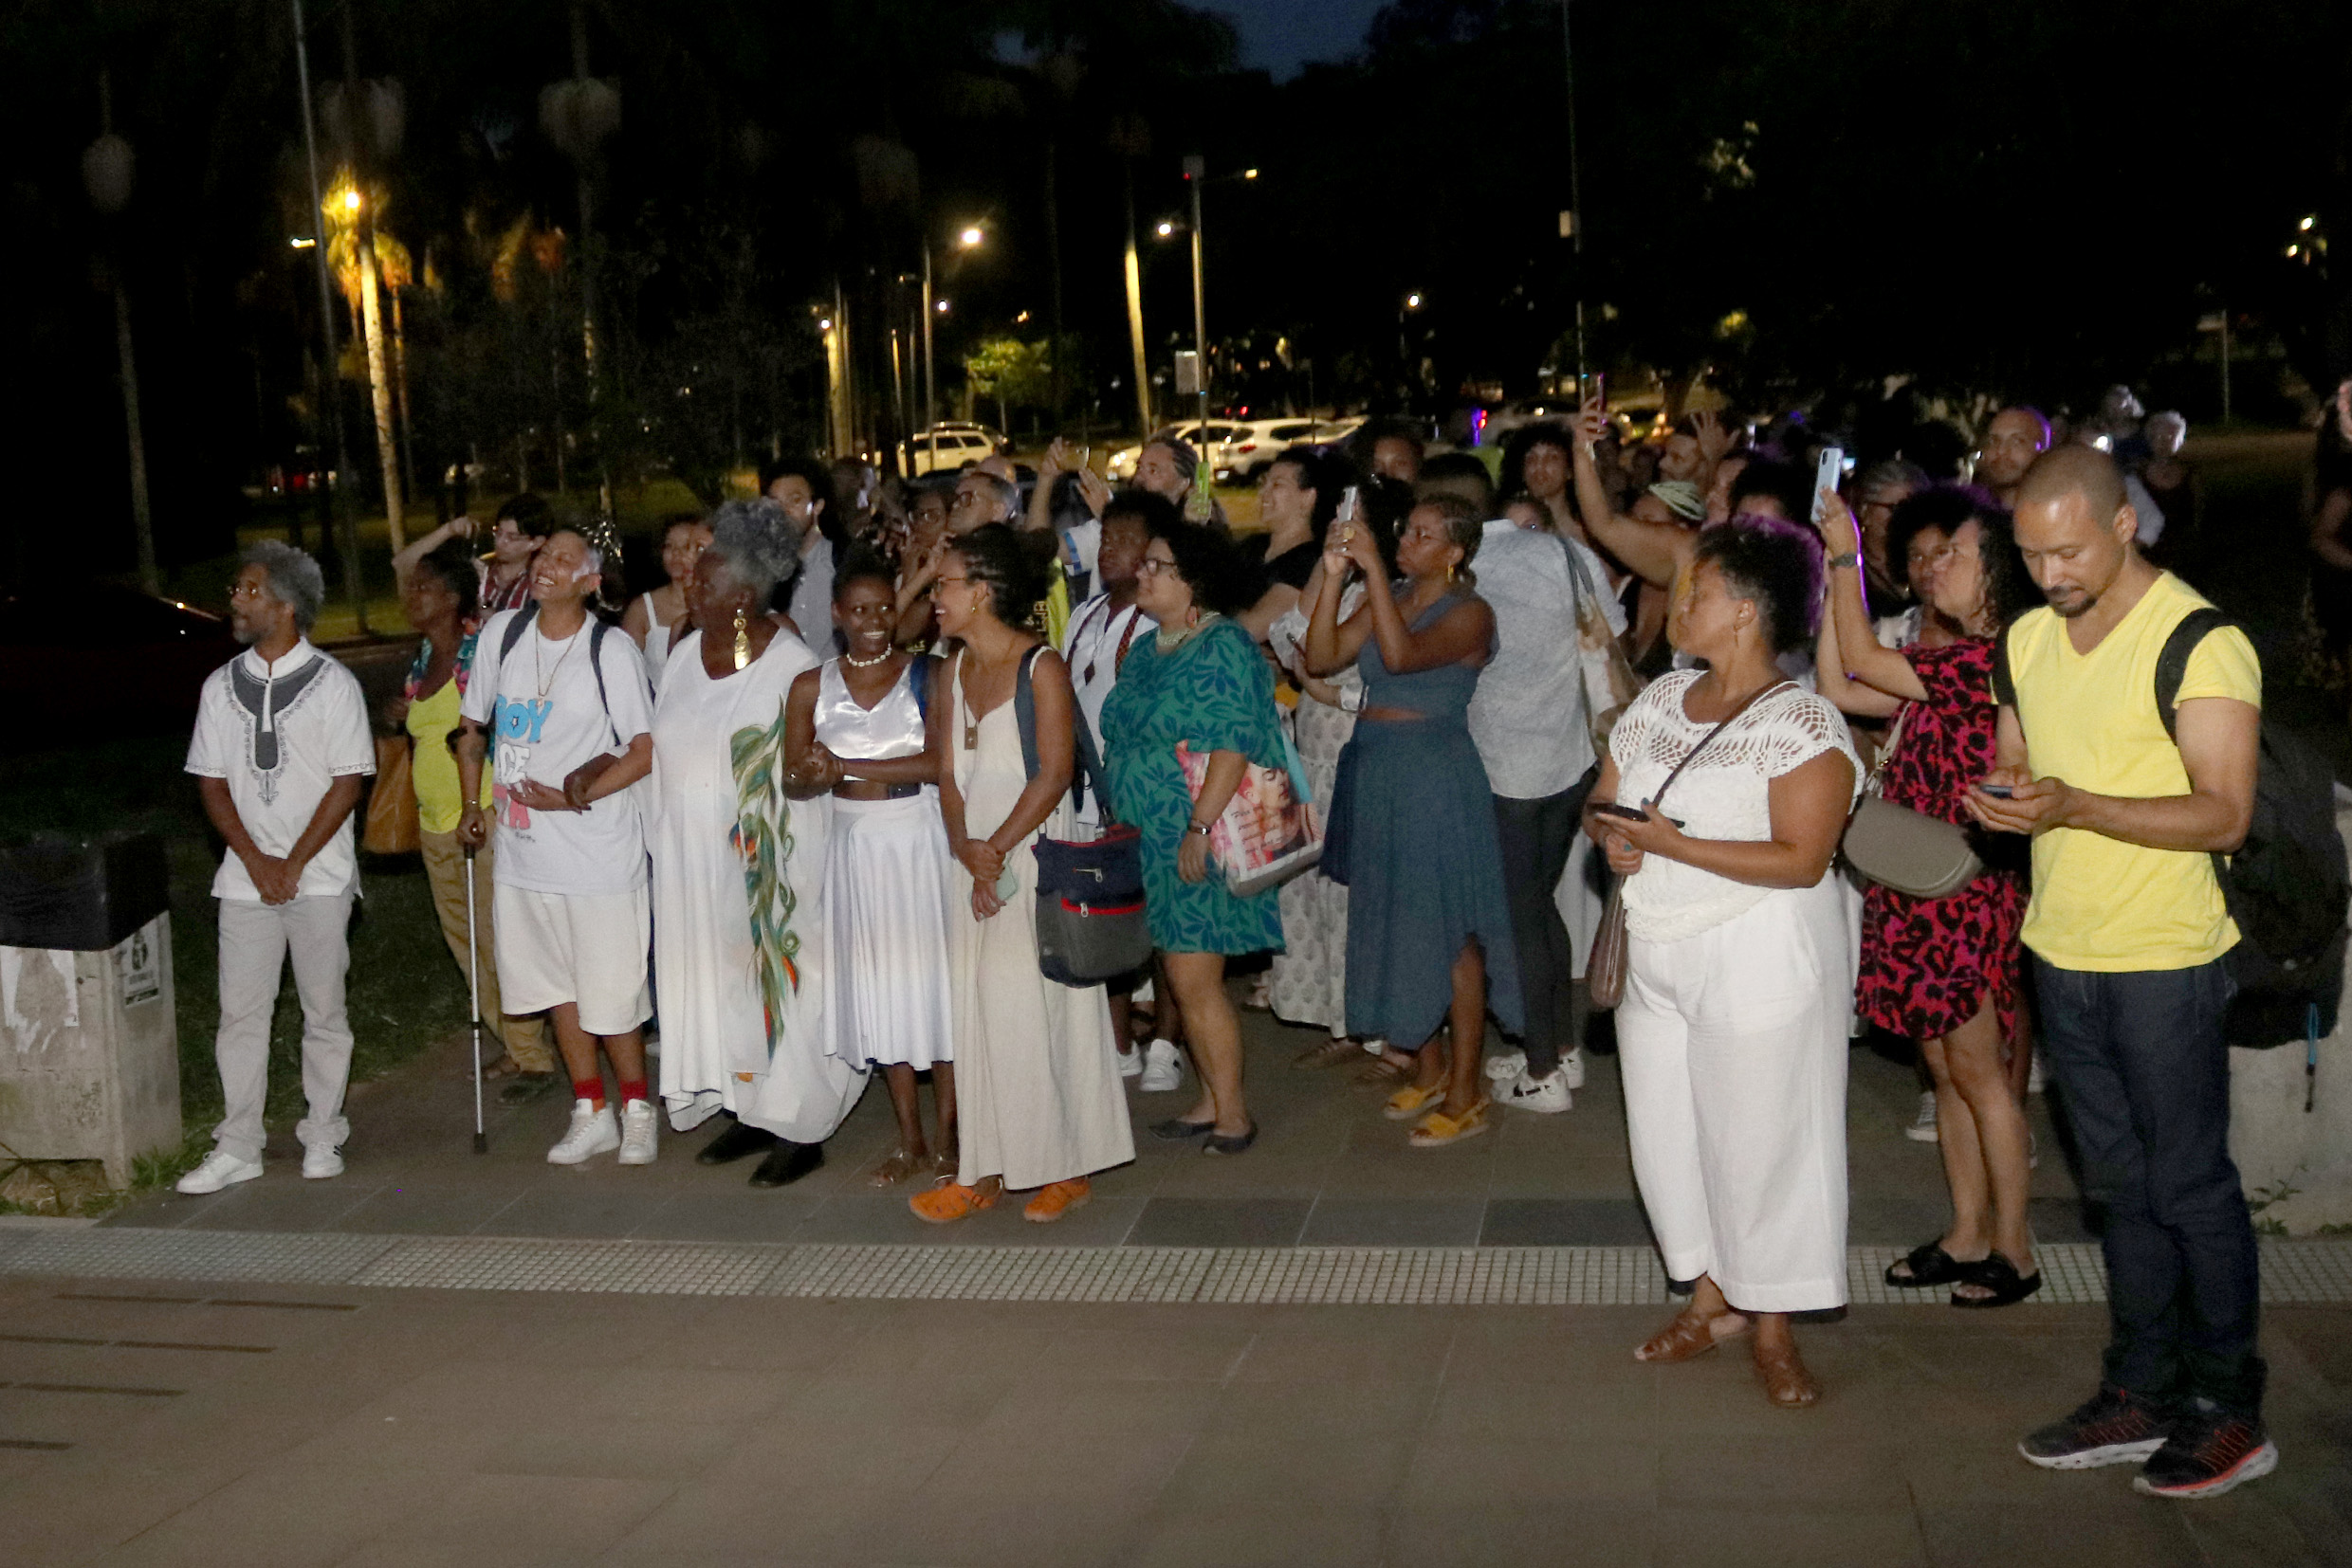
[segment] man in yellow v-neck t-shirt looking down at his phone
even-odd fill
[[[2016,531],[2049,609],[2006,632],[1999,766],[1969,809],[2034,835],[2023,940],[2084,1197],[2107,1208],[2112,1321],[2098,1394],[2018,1450],[2049,1469],[2145,1460],[2138,1490],[2211,1497],[2279,1462],[2253,1222],[2230,1161],[2237,926],[2213,870],[2253,818],[2263,672],[2244,632],[2209,632],[2164,733],[2157,656],[2206,602],[2140,559],[2103,451],[2037,458]]]

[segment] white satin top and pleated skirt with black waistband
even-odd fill
[[[924,724],[913,682],[929,679],[931,668],[929,658],[910,658],[898,684],[861,708],[842,679],[842,661],[828,658],[816,682],[816,738],[835,757],[920,757]],[[833,797],[828,1048],[851,1065],[924,1072],[955,1060],[948,1004],[953,863],[936,785],[896,799]]]

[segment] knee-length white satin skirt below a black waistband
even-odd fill
[[[826,919],[830,1044],[851,1065],[955,1060],[948,1001],[948,830],[938,795],[833,799]]]

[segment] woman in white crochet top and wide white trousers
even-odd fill
[[[1853,959],[1828,870],[1860,769],[1844,717],[1773,663],[1813,635],[1820,581],[1806,529],[1705,529],[1668,618],[1705,668],[1625,710],[1585,816],[1628,879],[1618,1053],[1635,1178],[1668,1274],[1698,1281],[1635,1356],[1689,1361],[1752,1333],[1776,1406],[1820,1399],[1788,1314],[1846,1300]]]

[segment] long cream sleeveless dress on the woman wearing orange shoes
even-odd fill
[[[955,788],[964,797],[964,832],[988,837],[1028,788],[1021,726],[1011,701],[978,722],[978,745],[964,745],[962,658],[955,668]],[[1040,832],[1070,837],[1070,797]],[[1004,867],[1018,889],[988,919],[971,912],[971,872],[948,877],[955,903],[948,985],[955,997],[955,1117],[967,1187],[1002,1175],[1028,1190],[1087,1175],[1136,1157],[1127,1093],[1110,1044],[1110,1004],[1101,985],[1084,990],[1037,971],[1037,835]]]

